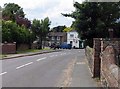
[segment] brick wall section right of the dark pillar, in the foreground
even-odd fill
[[[118,88],[120,75],[118,74],[119,67],[118,54],[120,53],[120,39],[110,39],[101,41],[101,84],[104,87]],[[119,87],[120,88],[120,87]]]

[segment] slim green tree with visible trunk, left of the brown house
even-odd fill
[[[47,33],[49,32],[49,25],[50,20],[46,17],[44,20],[37,20],[34,19],[32,23],[32,31],[37,35],[39,42],[38,42],[38,49],[42,49],[42,41],[45,39]]]

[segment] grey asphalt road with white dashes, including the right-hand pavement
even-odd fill
[[[84,50],[26,56],[2,61],[3,87],[96,87]]]

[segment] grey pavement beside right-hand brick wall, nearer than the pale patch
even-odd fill
[[[74,65],[70,87],[98,87],[93,80],[85,60],[77,60]]]

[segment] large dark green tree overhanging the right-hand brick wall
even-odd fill
[[[75,19],[72,26],[90,46],[93,38],[109,37],[108,29],[115,28],[120,16],[120,2],[75,2],[74,7],[74,12],[63,15]]]

